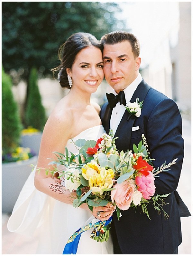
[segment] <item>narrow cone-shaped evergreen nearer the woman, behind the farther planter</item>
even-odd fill
[[[27,95],[25,126],[32,126],[40,131],[46,123],[46,112],[41,103],[41,95],[38,88],[37,69],[33,67],[29,76],[29,89]]]

